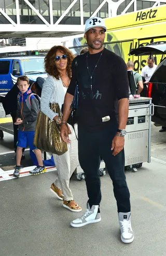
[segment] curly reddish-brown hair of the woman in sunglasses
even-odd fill
[[[74,59],[74,55],[71,51],[69,51],[66,47],[61,45],[55,45],[53,46],[49,52],[47,53],[45,57],[45,70],[48,73],[48,75],[55,77],[59,80],[60,72],[57,69],[57,66],[55,64],[55,57],[57,51],[62,52],[62,54],[67,55],[67,75],[71,78],[72,76],[72,61]]]

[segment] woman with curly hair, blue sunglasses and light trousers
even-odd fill
[[[50,103],[59,103],[62,108],[64,96],[71,81],[73,59],[72,52],[60,45],[53,46],[45,57],[45,70],[48,77],[41,91],[41,112],[59,125],[63,120],[50,109]],[[58,199],[63,200],[65,208],[80,212],[82,209],[74,201],[69,187],[70,178],[78,165],[78,142],[73,127],[71,125],[66,127],[70,131],[71,143],[68,144],[68,150],[63,155],[53,154],[58,178],[51,184],[50,190]],[[77,125],[75,125],[75,131],[77,132]]]

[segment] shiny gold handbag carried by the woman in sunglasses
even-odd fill
[[[62,118],[58,103],[50,103],[50,108]],[[61,139],[60,125],[52,121],[44,113],[39,111],[36,120],[34,145],[37,149],[62,155],[67,151],[67,144]]]

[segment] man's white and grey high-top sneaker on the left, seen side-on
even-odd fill
[[[100,222],[101,215],[99,205],[92,205],[91,209],[89,203],[87,203],[87,210],[80,218],[71,222],[72,227],[82,227],[90,223]]]

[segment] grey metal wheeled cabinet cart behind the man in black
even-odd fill
[[[127,135],[125,136],[125,166],[136,172],[144,162],[150,163],[151,116],[154,104],[151,98],[129,99]]]

